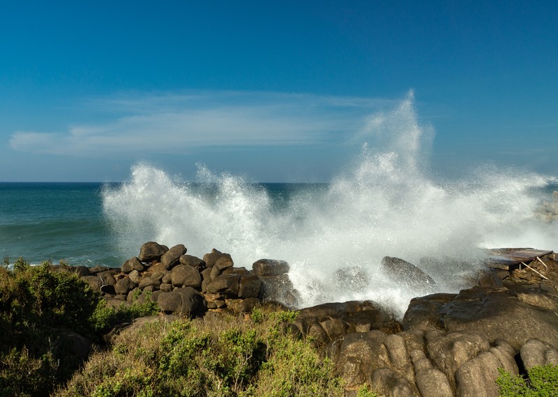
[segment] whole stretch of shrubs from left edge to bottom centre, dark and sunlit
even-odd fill
[[[70,268],[0,266],[0,397],[343,396],[333,363],[289,332],[296,313],[152,316],[103,345],[115,325],[158,313],[149,294],[107,306]],[[140,303],[141,302],[141,303]],[[100,343],[86,361],[63,332]],[[73,334],[75,335],[75,334]],[[374,396],[363,391],[361,396]]]

